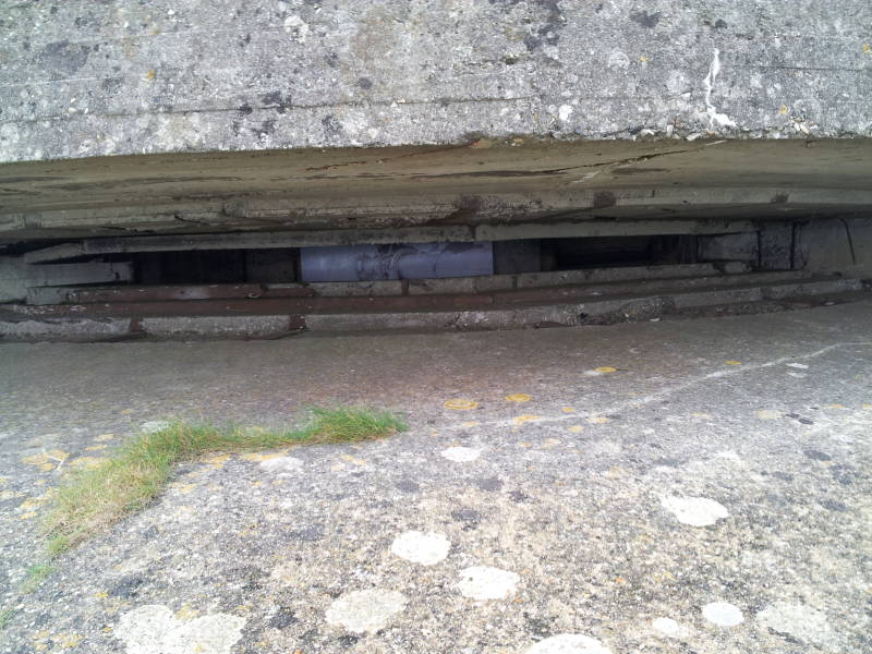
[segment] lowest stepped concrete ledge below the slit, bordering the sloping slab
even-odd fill
[[[760,278],[765,276],[761,275]],[[785,277],[785,276],[782,276]],[[511,304],[494,301],[481,306],[452,296],[433,296],[432,302],[414,303],[404,311],[390,311],[384,305],[372,305],[371,311],[360,298],[336,299],[320,312],[305,308],[300,300],[286,299],[281,304],[270,303],[271,314],[259,315],[157,315],[147,316],[147,304],[119,303],[108,307],[98,305],[97,313],[121,312],[125,317],[78,317],[85,305],[73,307],[33,307],[32,313],[41,319],[0,320],[0,336],[10,340],[39,338],[104,338],[106,336],[141,335],[158,338],[229,337],[275,338],[301,330],[311,332],[395,331],[395,330],[452,330],[452,329],[518,329],[548,326],[608,325],[669,316],[682,311],[732,304],[754,304],[764,301],[780,302],[796,298],[810,298],[850,293],[863,290],[857,279],[786,279],[780,282],[730,288],[729,286],[700,289],[676,289],[673,292],[605,295],[584,301],[566,301],[555,294],[543,295],[538,304],[530,301]],[[526,292],[526,291],[524,291]],[[370,300],[370,299],[364,299]],[[375,301],[375,299],[372,299]],[[412,300],[412,298],[407,298]],[[530,300],[528,298],[528,300]],[[305,302],[305,301],[303,301]],[[191,302],[180,303],[177,312],[191,311]],[[197,302],[194,302],[197,304]],[[292,306],[291,306],[292,305]],[[351,305],[351,306],[349,306]],[[58,308],[73,311],[63,315]],[[291,313],[289,308],[296,310]],[[159,311],[168,311],[165,304]],[[7,310],[9,312],[9,310]]]

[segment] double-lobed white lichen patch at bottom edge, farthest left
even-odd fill
[[[146,604],[121,616],[112,633],[129,654],[230,654],[244,625],[244,618],[228,614],[181,621],[166,606]]]

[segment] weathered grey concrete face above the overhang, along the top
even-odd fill
[[[872,135],[869,0],[0,3],[0,161]]]

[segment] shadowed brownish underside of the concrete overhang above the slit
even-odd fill
[[[125,237],[121,251],[135,252],[726,233],[753,218],[868,216],[870,180],[869,138],[476,138],[25,161],[0,166],[0,244],[86,238],[82,254],[99,254]],[[228,231],[262,233],[216,234]],[[194,232],[206,235],[159,235]]]

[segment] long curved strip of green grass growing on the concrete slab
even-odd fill
[[[313,408],[305,425],[287,432],[172,423],[137,436],[97,468],[70,474],[52,495],[43,524],[48,554],[55,557],[146,506],[179,462],[208,452],[373,440],[405,428],[392,413],[364,407]]]

